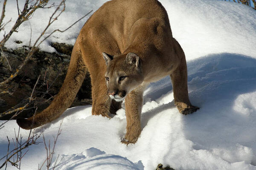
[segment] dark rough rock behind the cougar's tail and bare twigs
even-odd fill
[[[17,42],[18,43],[18,42]],[[53,96],[55,96],[64,81],[67,73],[67,68],[70,62],[70,55],[73,46],[67,44],[52,43],[58,53],[49,53],[38,50],[33,54],[29,62],[24,66],[15,79],[7,87],[0,88],[0,113],[3,113],[10,108],[19,105],[22,107],[29,100],[36,85],[34,95],[35,101],[27,108],[34,106],[38,107],[38,111],[42,111],[51,103]],[[12,71],[9,70],[8,62],[3,54],[9,60]],[[18,65],[28,54],[28,47],[23,46],[17,49],[3,48],[3,54],[0,56],[0,82],[10,77],[15,73]],[[7,94],[1,94],[3,91],[9,91]],[[50,98],[50,99],[49,99]],[[49,99],[49,100],[48,100]],[[90,75],[87,74],[82,86],[76,96],[75,101],[71,105],[88,105],[91,104],[91,84]],[[29,117],[35,112],[35,108],[23,111],[20,117]],[[9,119],[9,116],[4,116],[0,119]]]

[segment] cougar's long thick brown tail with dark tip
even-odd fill
[[[28,119],[17,119],[17,124],[23,129],[30,129],[57,119],[74,101],[86,73],[87,68],[83,62],[79,44],[76,42],[64,83],[52,103],[44,111],[36,113],[34,119],[33,116]]]

